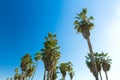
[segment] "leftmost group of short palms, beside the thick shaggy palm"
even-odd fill
[[[15,75],[13,78],[7,78],[7,80],[33,80],[38,61],[42,58],[41,54],[37,52],[34,57],[34,61],[30,54],[25,54],[21,58],[20,68],[21,74],[19,73],[19,68],[15,69]]]

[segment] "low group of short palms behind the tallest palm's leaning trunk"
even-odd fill
[[[92,62],[91,62],[90,56],[91,56],[90,54],[87,54],[87,56],[85,56],[86,64],[87,64],[88,68],[90,69],[90,71],[93,73],[93,67],[92,67]],[[97,71],[100,75],[100,79],[102,80],[101,70],[103,70],[106,75],[106,80],[108,80],[107,72],[110,70],[110,67],[111,67],[111,59],[109,58],[108,53],[96,52],[96,53],[94,53],[94,57],[95,57]]]

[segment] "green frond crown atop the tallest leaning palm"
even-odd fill
[[[94,24],[91,22],[91,20],[94,20],[93,16],[87,17],[87,9],[83,8],[82,12],[78,13],[75,18],[76,20],[74,21],[74,28],[78,33],[82,32],[85,38],[89,37],[89,30],[94,26]]]

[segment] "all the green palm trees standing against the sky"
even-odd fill
[[[98,73],[100,74],[100,79],[102,80],[102,69],[106,74],[106,80],[108,80],[107,71],[110,70],[111,59],[107,57],[108,54],[94,53],[90,41],[90,30],[94,27],[94,24],[91,22],[91,20],[94,20],[93,16],[87,17],[87,9],[83,8],[82,12],[78,13],[75,18],[76,20],[74,21],[74,28],[78,33],[82,33],[84,39],[88,43],[90,53],[86,56],[87,66],[93,73],[93,76],[96,80],[99,80]],[[60,58],[60,46],[57,44],[58,41],[56,39],[56,35],[48,33],[48,37],[45,37],[44,48],[35,54],[34,60],[30,54],[26,54],[21,58],[21,74],[19,74],[18,68],[16,68],[14,80],[33,80],[39,60],[43,61],[44,63],[45,70],[43,80],[56,80],[58,69],[62,74],[61,80],[65,80],[67,73],[70,76],[70,80],[72,80],[74,71],[71,62],[61,63],[59,66],[57,66]],[[10,80],[12,80],[12,78]]]

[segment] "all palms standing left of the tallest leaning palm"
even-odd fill
[[[30,54],[25,54],[21,58],[21,74],[19,74],[19,69],[16,68],[14,77],[7,78],[7,80],[33,80],[39,60],[44,63],[45,70],[43,80],[56,80],[58,69],[64,71],[64,67],[61,66],[61,64],[66,65],[64,72],[67,70],[72,80],[74,73],[71,62],[61,63],[60,66],[57,66],[60,58],[59,48],[60,46],[58,46],[56,35],[48,33],[48,37],[45,37],[44,48],[35,54],[34,60]],[[63,75],[62,72],[61,74]],[[65,80],[65,77],[63,80]]]

